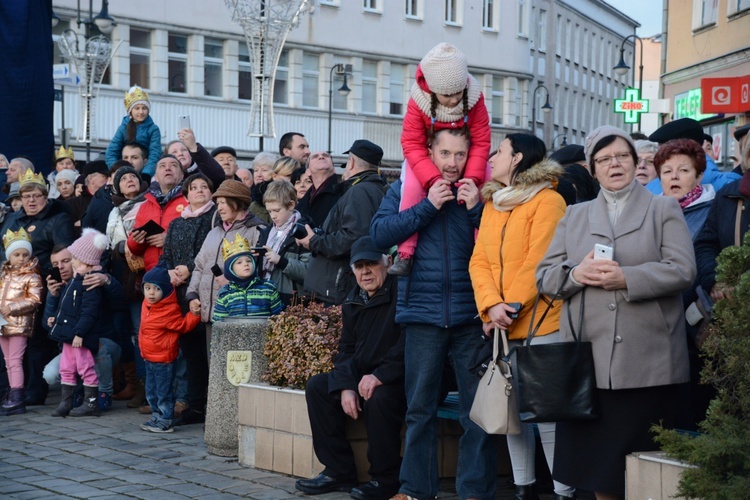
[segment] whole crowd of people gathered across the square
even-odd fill
[[[150,105],[131,88],[104,159],[80,173],[63,146],[46,179],[0,155],[2,414],[59,384],[53,416],[115,399],[150,415],[144,431],[202,422],[212,324],[315,300],[343,307],[343,331],[333,371],[306,389],[324,466],[297,481],[307,494],[435,498],[437,410],[457,390],[458,494],[494,498],[497,439],[469,410],[472,358],[496,328],[511,346],[534,327],[534,344],[592,343],[599,418],[536,424],[556,498],[622,498],[625,456],[656,446],[650,426],[695,429],[705,415],[700,321],[686,311],[732,293],[716,257],[750,227],[750,126],[735,132],[735,172],[691,119],[649,137],[603,125],[551,155],[513,133],[491,151],[479,85],[445,43],[418,66],[390,185],[366,139],[341,175],[299,132],[251,168],[189,128],[162,149]],[[560,300],[533,325],[538,294]],[[345,434],[360,417],[364,485]],[[535,440],[532,424],[507,439],[516,499],[537,498]]]

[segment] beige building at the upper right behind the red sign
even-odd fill
[[[714,138],[719,167],[731,169],[731,158],[740,157],[732,132],[750,123],[750,99],[746,95],[745,104],[730,113],[705,111],[707,104],[725,98],[739,102],[742,96],[739,92],[703,95],[701,81],[746,77],[750,83],[750,0],[666,0],[666,4],[662,85],[672,105],[667,119],[699,120]]]

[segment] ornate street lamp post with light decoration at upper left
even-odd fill
[[[94,98],[98,93],[98,88],[94,84],[101,84],[104,72],[112,60],[112,55],[117,50],[112,49],[112,42],[104,35],[112,33],[115,29],[115,20],[109,15],[109,1],[102,0],[102,10],[94,16],[93,0],[89,0],[89,17],[81,17],[81,0],[78,0],[78,11],[76,16],[78,28],[83,24],[84,43],[81,49],[78,40],[78,33],[73,30],[65,30],[58,40],[60,52],[63,58],[71,61],[76,69],[76,73],[82,78],[80,93],[83,118],[81,130],[78,133],[78,142],[86,144],[86,161],[91,160],[91,138],[94,129]],[[59,18],[52,16],[53,26],[59,22]],[[103,35],[91,36],[91,27],[96,25]],[[118,44],[119,46],[119,44]]]

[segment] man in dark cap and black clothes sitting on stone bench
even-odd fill
[[[343,304],[334,369],[312,377],[305,389],[313,448],[325,469],[317,477],[298,480],[296,487],[309,495],[351,490],[355,499],[387,499],[399,489],[406,413],[404,338],[395,322],[397,283],[388,275],[391,257],[369,236],[354,243],[351,255],[357,287]],[[347,416],[364,417],[367,428],[372,480],[356,488]]]

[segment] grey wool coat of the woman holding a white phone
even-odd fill
[[[613,247],[627,289],[607,291],[565,279],[567,270],[578,265],[596,243]],[[640,184],[634,187],[614,229],[602,192],[590,202],[569,206],[536,271],[543,293],[552,296],[563,286],[563,340],[573,340],[568,315],[578,333],[585,293],[582,339],[592,343],[600,389],[689,380],[681,292],[693,284],[695,276],[692,239],[677,201],[653,196]]]

